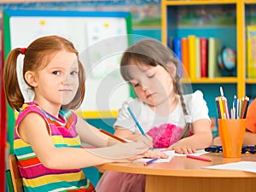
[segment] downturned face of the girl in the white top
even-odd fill
[[[130,83],[137,96],[150,107],[172,101],[175,95],[171,74],[160,65],[148,67],[146,65],[130,65]]]

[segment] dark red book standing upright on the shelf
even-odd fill
[[[200,38],[200,61],[201,61],[201,78],[208,77],[208,40],[207,38]]]

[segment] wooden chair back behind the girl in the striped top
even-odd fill
[[[9,154],[9,171],[12,177],[12,183],[15,192],[23,192],[22,177],[18,168],[17,158],[15,154]]]

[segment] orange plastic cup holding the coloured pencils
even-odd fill
[[[246,119],[218,119],[218,135],[225,158],[240,158]]]

